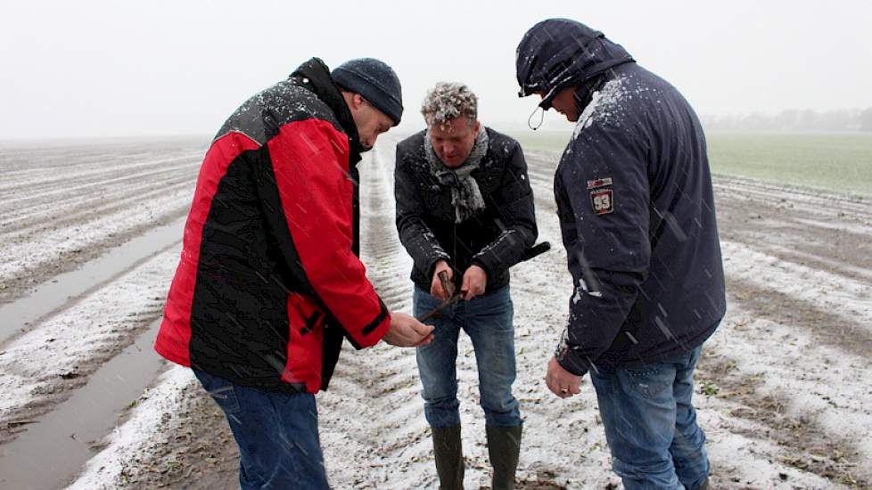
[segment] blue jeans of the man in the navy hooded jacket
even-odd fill
[[[638,369],[590,370],[612,467],[627,490],[689,490],[709,474],[691,404],[700,349]]]

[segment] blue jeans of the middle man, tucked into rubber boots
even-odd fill
[[[415,288],[415,316],[440,304],[430,293]],[[418,372],[424,387],[424,415],[432,427],[460,425],[457,401],[457,338],[460,330],[473,340],[479,372],[481,408],[487,425],[521,425],[514,383],[514,306],[509,287],[485,296],[461,301],[442,311],[428,324],[436,327],[434,339],[416,352]]]

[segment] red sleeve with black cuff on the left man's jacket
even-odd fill
[[[309,283],[352,344],[369,347],[387,332],[390,314],[351,251],[352,184],[348,137],[330,123],[285,124],[267,143],[284,216]],[[381,322],[371,325],[372,319]]]

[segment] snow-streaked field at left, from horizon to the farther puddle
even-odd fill
[[[0,145],[0,305],[183,216],[204,139]]]

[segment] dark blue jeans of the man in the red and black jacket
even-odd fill
[[[239,445],[239,486],[325,489],[318,413],[311,393],[273,393],[194,370]]]

